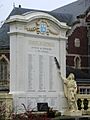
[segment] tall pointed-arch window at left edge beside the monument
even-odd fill
[[[5,55],[0,57],[0,81],[9,80],[9,61]]]

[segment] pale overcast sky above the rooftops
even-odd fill
[[[21,5],[22,8],[51,11],[74,1],[76,0],[0,0],[0,22],[10,14],[13,4],[16,7]]]

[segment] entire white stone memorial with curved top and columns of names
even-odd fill
[[[14,108],[37,110],[37,103],[62,113],[66,108],[63,83],[57,75],[56,57],[66,75],[66,23],[44,12],[11,16],[10,23],[10,94]]]

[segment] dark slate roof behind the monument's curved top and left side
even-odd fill
[[[48,13],[50,15],[52,15],[53,17],[55,17],[56,19],[58,19],[61,22],[66,22],[69,23],[71,20],[71,15],[70,14],[63,14],[63,13],[56,13],[53,11],[41,11],[41,10],[34,10],[34,9],[26,9],[26,8],[17,8],[15,7],[10,15],[7,17],[7,19],[9,19],[10,16],[13,15],[22,15],[26,12],[30,12],[30,11],[36,11],[36,12],[45,12]],[[0,28],[0,49],[9,49],[10,46],[10,41],[9,41],[9,35],[7,34],[7,32],[9,32],[9,24],[4,23],[2,25],[2,27]]]

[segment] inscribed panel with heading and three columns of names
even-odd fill
[[[55,91],[54,43],[30,43],[32,44],[29,45],[28,53],[28,91]]]

